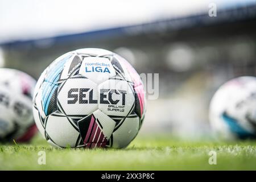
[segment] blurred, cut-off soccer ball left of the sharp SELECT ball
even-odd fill
[[[0,68],[0,142],[27,142],[36,133],[32,94],[36,81],[15,69]]]

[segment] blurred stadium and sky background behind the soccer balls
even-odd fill
[[[208,14],[217,5],[217,16]],[[208,105],[230,78],[256,74],[256,1],[0,0],[0,65],[38,78],[73,49],[105,48],[159,73],[142,133],[210,134]]]

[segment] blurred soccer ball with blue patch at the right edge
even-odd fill
[[[222,85],[210,103],[209,119],[220,138],[255,138],[256,77],[238,77]]]

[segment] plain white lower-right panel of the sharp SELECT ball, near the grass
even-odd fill
[[[139,131],[139,118],[125,118],[122,125],[113,133],[114,148],[123,148],[136,137]]]

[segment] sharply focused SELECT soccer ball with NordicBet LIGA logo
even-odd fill
[[[121,56],[98,48],[65,53],[40,76],[36,126],[56,147],[126,147],[146,109],[141,78]]]

